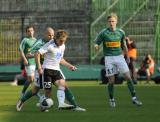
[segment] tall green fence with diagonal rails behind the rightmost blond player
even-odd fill
[[[103,55],[102,47],[99,51],[94,49],[93,40],[100,30],[107,26],[106,17],[111,12],[116,12],[119,16],[118,26],[124,29],[127,35],[136,40],[139,54],[138,61],[141,61],[147,52],[154,55],[157,0],[93,0],[92,4],[93,21],[90,29],[91,64],[97,62],[96,59],[99,60]]]

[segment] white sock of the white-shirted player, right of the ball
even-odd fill
[[[57,98],[58,98],[58,102],[60,103],[64,103],[65,101],[65,93],[64,93],[65,87],[60,86],[57,90]]]

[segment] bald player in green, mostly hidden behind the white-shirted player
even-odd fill
[[[54,30],[52,28],[47,28],[44,34],[44,38],[43,39],[39,39],[36,41],[36,43],[32,46],[30,54],[27,55],[27,57],[34,57],[35,52],[37,52],[44,44],[46,44],[49,41],[53,41],[53,37],[54,37]],[[40,56],[40,62],[41,64],[43,64],[43,57]],[[18,101],[17,103],[17,111],[20,111],[23,103],[25,101],[27,101],[29,98],[31,98],[32,96],[34,96],[35,94],[38,93],[38,91],[40,90],[40,88],[42,88],[43,84],[42,84],[42,75],[37,75],[36,74],[36,79],[34,81],[34,85],[32,87],[32,90],[29,90],[25,93],[25,95],[20,99],[20,101]],[[66,100],[72,104],[73,110],[75,111],[85,111],[85,109],[81,108],[78,106],[77,102],[75,101],[74,95],[72,94],[72,92],[70,91],[70,89],[68,88],[68,86],[66,85],[65,87],[65,98]],[[43,97],[43,96],[42,96]],[[67,106],[61,106],[62,108],[67,108]]]

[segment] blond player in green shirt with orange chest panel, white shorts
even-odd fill
[[[142,105],[142,102],[137,100],[136,92],[133,86],[133,82],[130,76],[129,68],[124,59],[122,51],[127,55],[127,46],[125,43],[125,33],[123,30],[116,27],[118,17],[115,13],[111,13],[107,17],[107,21],[109,24],[108,28],[103,29],[95,39],[95,48],[99,49],[99,45],[103,43],[103,53],[105,56],[105,68],[106,68],[106,76],[108,77],[108,92],[109,92],[109,103],[111,107],[115,107],[115,99],[114,99],[114,75],[119,71],[123,73],[126,80],[128,89],[132,96],[133,104],[138,106]],[[127,55],[127,62],[129,62],[129,58]]]

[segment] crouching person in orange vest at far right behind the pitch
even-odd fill
[[[147,76],[147,83],[149,83],[151,79],[151,75],[154,73],[154,60],[150,54],[146,54],[140,69],[138,70],[138,74],[140,76]]]

